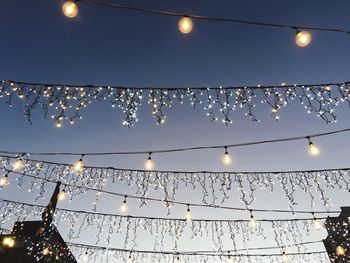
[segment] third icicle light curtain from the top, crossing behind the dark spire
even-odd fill
[[[38,217],[41,215],[43,208],[45,206],[0,199],[1,227],[12,221]],[[324,222],[325,218],[320,220]],[[110,247],[111,238],[119,236],[125,240],[125,249],[131,247],[131,250],[137,247],[138,238],[144,236],[145,232],[150,235],[162,233],[161,235],[156,235],[154,240],[154,249],[160,250],[167,245],[167,239],[174,239],[177,246],[185,231],[189,231],[192,239],[210,238],[213,242],[213,247],[218,251],[225,249],[225,240],[227,238],[232,242],[235,251],[238,251],[239,246],[244,246],[244,250],[249,251],[247,245],[253,238],[265,240],[269,235],[273,234],[278,245],[276,248],[282,246],[285,248],[292,247],[292,245],[286,245],[292,240],[294,242],[293,246],[301,252],[309,244],[303,242],[302,238],[310,236],[312,231],[315,231],[313,230],[312,218],[264,220],[258,221],[257,225],[251,228],[248,220],[196,219],[188,221],[176,218],[125,216],[62,208],[57,209],[54,223],[67,229],[69,241],[79,239],[84,231],[89,231],[91,235],[95,234],[96,244],[107,242],[108,247]],[[103,227],[104,224],[106,224],[105,227]],[[288,229],[288,231],[285,231],[285,229]],[[241,240],[242,244],[238,240]],[[254,248],[253,250],[259,250],[259,248]]]

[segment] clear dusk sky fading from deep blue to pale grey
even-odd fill
[[[128,1],[130,4],[203,15],[302,24],[349,29],[349,1]],[[126,86],[236,86],[341,82],[350,80],[350,36],[313,32],[313,43],[299,48],[294,32],[252,26],[195,21],[193,33],[182,35],[177,18],[135,14],[82,5],[79,16],[69,20],[61,12],[62,1],[2,0],[0,3],[0,79],[28,82],[110,84]],[[1,101],[0,101],[1,102]],[[267,109],[261,110],[261,122],[253,123],[241,112],[233,116],[228,127],[211,123],[202,109],[187,105],[168,110],[165,125],[157,126],[143,106],[139,122],[124,128],[123,116],[107,105],[94,105],[83,113],[84,119],[74,126],[56,129],[40,112],[29,125],[21,107],[9,108],[0,103],[0,145],[18,151],[116,151],[175,148],[182,146],[232,144],[252,140],[305,135],[349,128],[347,105],[336,110],[339,121],[327,125],[308,115],[299,104],[281,111],[274,122]],[[306,142],[283,143],[236,149],[232,152],[232,171],[274,171],[349,167],[348,135],[317,139],[322,154],[311,158]],[[160,170],[224,170],[222,151],[159,156]],[[146,157],[89,158],[91,165],[142,168]],[[65,160],[73,162],[73,160]],[[109,185],[110,189],[133,193],[135,189]],[[281,193],[280,193],[281,194]],[[0,197],[32,201],[28,194],[12,184]],[[227,205],[242,206],[237,194]],[[330,191],[335,208],[349,205],[348,195]],[[89,196],[91,200],[93,198]],[[189,189],[179,200],[198,201]],[[273,201],[273,202],[272,202]],[[47,200],[43,200],[45,204]],[[92,201],[91,201],[92,202]],[[114,212],[121,200],[104,198],[99,209]],[[62,207],[90,209],[82,200]],[[134,204],[136,206],[136,203]],[[281,195],[259,196],[256,207],[287,209]],[[300,197],[298,208],[311,209]],[[157,204],[133,209],[131,214],[166,216]],[[177,209],[172,216],[182,217]],[[247,218],[246,214],[211,214],[195,210],[201,217]],[[274,216],[274,215],[271,215]],[[325,237],[311,236],[310,240]],[[89,238],[82,240],[94,243]],[[145,242],[146,243],[146,242]],[[180,242],[183,250],[210,249],[210,242]],[[199,244],[199,245],[198,245]],[[270,244],[274,244],[273,242]],[[147,244],[145,244],[147,245]],[[254,241],[253,246],[264,246]],[[120,247],[120,243],[113,244]],[[146,246],[147,247],[147,246]],[[142,249],[142,243],[140,249]],[[149,247],[148,247],[149,248]],[[168,248],[171,249],[171,248]]]

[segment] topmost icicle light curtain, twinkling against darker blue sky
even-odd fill
[[[334,109],[339,102],[350,104],[350,83],[331,83],[315,85],[281,85],[256,87],[218,87],[218,88],[128,88],[94,85],[60,85],[2,81],[0,98],[10,106],[19,100],[24,106],[24,116],[31,123],[35,109],[41,109],[44,116],[50,115],[58,128],[64,122],[74,124],[82,118],[84,108],[97,102],[119,108],[125,115],[123,125],[133,126],[141,104],[147,100],[152,107],[152,116],[158,124],[166,120],[165,110],[189,101],[193,108],[203,107],[212,121],[232,123],[232,114],[244,110],[253,121],[259,121],[255,107],[265,104],[270,115],[280,120],[282,108],[292,102],[299,102],[308,113],[314,113],[327,123],[336,121]],[[148,99],[147,99],[148,98]],[[260,112],[261,110],[259,110]]]

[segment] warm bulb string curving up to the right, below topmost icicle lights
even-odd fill
[[[83,159],[86,156],[145,155],[145,154],[148,155],[148,157],[144,163],[145,170],[156,171],[154,169],[155,162],[154,162],[154,159],[152,159],[152,155],[154,155],[154,154],[176,153],[176,152],[208,150],[208,149],[223,149],[224,155],[222,157],[222,163],[225,166],[229,166],[233,163],[232,155],[229,153],[230,148],[246,147],[246,146],[261,145],[261,144],[270,144],[270,143],[299,141],[299,140],[307,140],[307,142],[308,142],[307,150],[308,150],[309,155],[310,156],[317,156],[320,154],[320,148],[313,141],[311,141],[311,139],[318,138],[318,137],[324,137],[324,136],[331,136],[331,135],[345,133],[345,132],[349,132],[349,131],[350,131],[350,128],[347,128],[347,129],[335,130],[335,131],[331,131],[331,132],[324,132],[324,133],[318,133],[318,134],[285,137],[285,138],[271,139],[271,140],[260,140],[260,141],[238,143],[238,144],[195,146],[195,147],[173,148],[173,149],[165,149],[165,150],[121,151],[121,152],[85,152],[85,153],[81,153],[81,152],[79,152],[79,153],[78,152],[26,152],[26,153],[23,153],[23,152],[17,152],[17,151],[0,150],[0,153],[17,155],[18,159],[13,165],[14,171],[18,171],[19,168],[22,166],[23,157],[25,155],[34,155],[34,156],[57,156],[57,155],[77,156],[78,155],[78,156],[80,156],[80,158],[73,164],[73,169],[76,172],[82,172],[84,167],[85,167]]]

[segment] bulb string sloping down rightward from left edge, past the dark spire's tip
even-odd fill
[[[6,186],[9,185],[9,174],[10,173],[14,173],[14,174],[18,174],[21,175],[23,177],[28,177],[28,178],[32,178],[35,180],[41,180],[41,181],[46,181],[49,183],[53,183],[53,184],[57,184],[58,181],[56,180],[51,180],[49,178],[42,178],[39,176],[35,176],[35,175],[30,175],[30,174],[25,174],[25,173],[19,173],[13,170],[6,170],[6,174],[0,179],[0,187],[4,188]],[[98,194],[108,194],[108,195],[113,195],[113,196],[119,196],[119,197],[123,197],[123,202],[120,206],[120,211],[123,213],[126,213],[129,210],[129,205],[127,203],[128,199],[134,199],[134,200],[143,200],[143,201],[151,201],[151,202],[159,202],[159,203],[165,203],[167,207],[169,207],[170,205],[182,205],[182,206],[186,206],[187,207],[187,212],[186,215],[188,214],[188,209],[189,207],[202,207],[202,208],[214,208],[214,209],[223,209],[223,210],[233,210],[233,211],[247,211],[246,208],[239,208],[239,207],[232,207],[232,206],[223,206],[223,205],[206,205],[206,204],[199,204],[199,203],[191,203],[191,202],[180,202],[180,201],[168,201],[168,200],[164,200],[164,199],[160,199],[160,198],[152,198],[152,197],[141,197],[141,196],[136,196],[136,195],[126,195],[123,193],[117,193],[117,192],[112,192],[112,191],[107,191],[107,190],[103,190],[103,189],[97,189],[97,188],[92,188],[92,187],[87,187],[87,186],[80,186],[80,185],[72,185],[72,184],[68,184],[68,183],[64,183],[61,182],[61,185],[64,187],[58,197],[59,197],[59,201],[64,201],[67,199],[67,196],[69,195],[69,193],[65,190],[66,188],[77,188],[77,189],[83,189],[84,192],[86,191],[94,191],[97,192]],[[281,209],[250,209],[249,212],[251,213],[251,215],[253,214],[253,212],[259,212],[259,213],[293,213],[293,214],[311,214],[313,216],[313,221],[314,221],[314,225],[316,225],[316,228],[321,228],[318,227],[320,226],[319,222],[320,220],[324,219],[322,217],[315,217],[315,214],[339,214],[341,211],[306,211],[306,210],[281,210]],[[192,216],[191,216],[192,218]],[[252,219],[252,217],[250,218]],[[255,220],[255,218],[254,218]],[[294,220],[294,219],[292,219]],[[307,220],[307,219],[299,219],[299,220]],[[239,221],[239,220],[237,220]],[[242,220],[244,221],[244,220]],[[265,219],[259,219],[256,220],[259,222],[264,222]],[[269,220],[267,220],[269,221]],[[288,221],[288,219],[286,219],[285,221]]]

